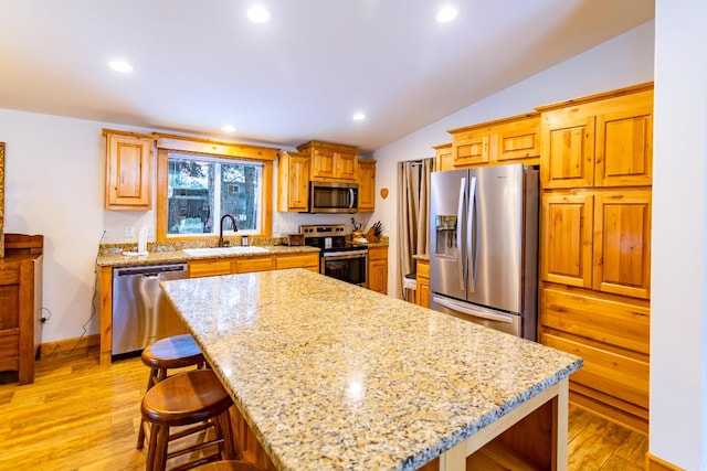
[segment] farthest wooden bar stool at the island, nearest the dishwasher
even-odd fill
[[[143,351],[143,363],[150,367],[147,378],[147,390],[167,377],[167,371],[189,366],[202,367],[203,354],[194,338],[190,334],[173,335],[160,339]],[[137,433],[137,449],[145,445],[145,419],[140,418],[140,430]]]

